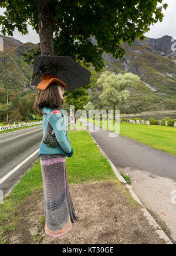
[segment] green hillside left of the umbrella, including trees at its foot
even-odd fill
[[[2,38],[4,51],[0,52],[0,121],[6,121],[7,113],[9,123],[30,120],[33,114],[36,115],[33,110],[35,92],[31,87],[33,66],[23,62],[22,53],[35,45],[8,36]]]

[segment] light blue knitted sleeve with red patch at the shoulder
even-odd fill
[[[72,153],[72,147],[70,146],[70,143],[66,138],[66,133],[65,133],[66,127],[64,126],[64,123],[63,123],[62,114],[54,110],[49,115],[48,122],[53,127],[57,142],[59,143],[62,150],[65,151],[65,153],[67,154]]]

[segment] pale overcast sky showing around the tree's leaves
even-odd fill
[[[172,36],[176,39],[176,22],[175,22],[175,12],[176,12],[176,1],[175,0],[163,0],[163,3],[168,4],[168,8],[164,10],[163,22],[157,22],[154,26],[151,26],[150,32],[146,33],[145,36],[149,38],[161,38],[164,35]],[[4,9],[0,8],[0,15],[4,13]],[[0,26],[1,28],[1,26]],[[32,27],[28,27],[29,34],[21,35],[17,29],[13,33],[13,38],[26,43],[39,43],[39,35],[32,30]],[[8,36],[8,35],[6,35]]]

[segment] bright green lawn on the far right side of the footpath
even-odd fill
[[[95,123],[99,125],[99,121],[95,121]],[[100,126],[107,129],[107,122],[105,120],[100,121]],[[120,123],[120,134],[176,156],[175,127]]]

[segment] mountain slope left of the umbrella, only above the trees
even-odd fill
[[[12,90],[31,89],[33,67],[22,61],[22,54],[37,45],[22,43],[9,36],[0,37],[4,40],[4,51],[0,52],[0,86]]]

